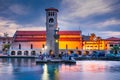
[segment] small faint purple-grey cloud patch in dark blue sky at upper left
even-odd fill
[[[25,15],[28,13],[28,7],[24,5],[19,5],[19,4],[13,4],[9,7],[9,9],[18,15]]]

